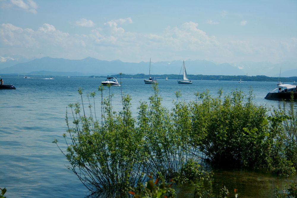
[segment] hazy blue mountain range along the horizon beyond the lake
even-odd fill
[[[104,61],[87,57],[82,60],[43,57],[34,60],[0,57],[0,74],[90,76],[124,74],[179,74],[182,60],[129,63],[120,60]],[[237,62],[215,64],[206,60],[185,60],[187,73],[192,75],[266,75],[297,76],[297,63]]]

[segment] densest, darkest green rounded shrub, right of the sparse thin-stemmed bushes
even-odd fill
[[[220,92],[221,94],[222,92]],[[193,133],[196,144],[215,167],[261,167],[266,163],[269,138],[266,107],[246,102],[241,91],[221,99],[199,95],[193,103]]]

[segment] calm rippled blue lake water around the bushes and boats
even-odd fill
[[[86,187],[69,172],[68,161],[52,143],[56,138],[63,146],[62,134],[66,132],[66,107],[80,102],[78,87],[84,96],[97,92],[96,106],[100,107],[98,86],[102,78],[75,77],[9,77],[2,76],[4,84],[12,84],[16,90],[0,90],[0,188],[7,188],[7,197],[85,197]],[[216,95],[219,88],[224,93],[236,89],[249,93],[253,89],[255,102],[267,107],[277,107],[282,102],[265,100],[267,92],[276,87],[276,82],[193,81],[192,85],[180,85],[176,80],[159,80],[159,94],[163,105],[171,108],[175,91],[180,90],[182,100],[195,100],[194,93],[210,91]],[[122,79],[122,87],[111,87],[114,94],[112,105],[121,109],[121,90],[132,97],[132,111],[137,115],[139,101],[148,101],[153,94],[151,85],[143,79]],[[108,89],[104,91],[108,96]],[[85,100],[86,102],[86,100]],[[97,109],[99,111],[99,108]],[[266,172],[218,171],[215,185],[227,186],[229,191],[237,188],[241,197],[274,197],[275,185],[296,183],[296,176],[278,178]],[[193,197],[191,187],[178,188],[178,197]]]

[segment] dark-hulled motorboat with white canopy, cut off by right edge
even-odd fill
[[[269,92],[265,96],[265,99],[267,99],[267,100],[290,100],[291,94],[293,94],[293,99],[297,100],[296,85],[280,84],[273,91]]]

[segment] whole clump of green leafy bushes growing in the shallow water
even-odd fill
[[[295,173],[297,112],[293,101],[290,110],[274,109],[268,116],[265,106],[252,101],[252,92],[245,96],[234,91],[223,97],[219,90],[212,97],[206,91],[186,103],[178,100],[181,94],[177,91],[170,111],[162,106],[155,84],[149,104],[140,102],[134,118],[130,96],[122,96],[123,109],[116,113],[108,89],[104,98],[103,87],[99,87],[99,120],[95,92],[87,94],[85,108],[82,89],[78,90],[81,104],[69,104],[66,114],[67,151],[58,146],[70,163],[68,169],[92,192],[127,197],[129,188],[141,191],[144,175],[152,175],[162,183],[171,179],[180,184],[196,182],[195,196],[211,197],[211,173],[204,170],[208,161],[213,167]]]

